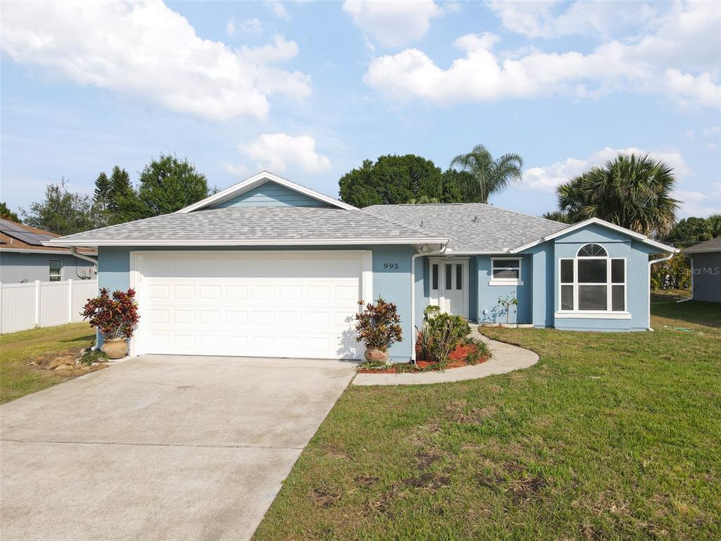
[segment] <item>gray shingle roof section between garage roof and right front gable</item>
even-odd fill
[[[374,205],[363,212],[448,237],[448,251],[456,253],[503,252],[567,227],[483,203]]]

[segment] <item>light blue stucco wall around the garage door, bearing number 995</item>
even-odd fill
[[[202,250],[371,250],[373,252],[373,297],[382,296],[398,307],[404,340],[395,344],[389,353],[394,362],[405,362],[412,352],[412,325],[410,321],[410,262],[415,250],[410,246],[306,246],[306,247],[207,247]],[[100,247],[98,264],[98,286],[110,291],[127,290],[130,287],[130,252],[149,250],[183,250],[178,247]],[[187,248],[187,251],[196,251]],[[384,268],[384,264],[387,264]],[[395,268],[396,264],[398,268]]]

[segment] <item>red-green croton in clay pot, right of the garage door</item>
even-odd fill
[[[363,301],[358,301],[363,306]],[[366,362],[381,365],[388,362],[388,348],[403,340],[401,318],[392,302],[381,297],[376,304],[366,304],[363,312],[355,315],[355,340],[366,346]]]

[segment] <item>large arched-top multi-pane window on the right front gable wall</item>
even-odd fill
[[[559,260],[561,312],[625,312],[626,260],[588,244],[575,258]]]

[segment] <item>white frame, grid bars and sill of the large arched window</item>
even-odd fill
[[[586,244],[598,244],[598,242],[587,242]],[[558,309],[556,310],[556,317],[564,318],[564,317],[578,317],[580,319],[598,319],[598,320],[630,320],[631,319],[631,313],[628,312],[628,261],[627,258],[612,258],[609,256],[609,250],[603,246],[598,244],[603,248],[603,250],[606,250],[606,256],[605,257],[598,257],[598,256],[588,256],[588,255],[578,255],[578,252],[580,252],[580,247],[578,250],[576,250],[576,255],[574,258],[559,258],[558,259]],[[578,260],[584,260],[584,259],[605,259],[606,260],[606,282],[603,283],[588,283],[578,282]],[[624,281],[623,283],[620,282],[614,282],[612,281],[612,261],[614,259],[622,260],[624,262]],[[569,282],[562,282],[561,281],[561,263],[562,261],[572,261],[573,262],[573,283]],[[561,286],[573,286],[573,309],[572,310],[564,310],[561,308],[562,300],[561,300]],[[581,310],[578,308],[578,286],[606,286],[606,308],[613,306],[613,286],[624,286],[624,311],[619,310]]]

